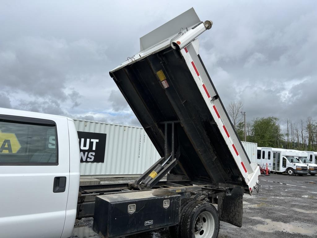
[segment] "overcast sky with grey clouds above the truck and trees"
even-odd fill
[[[316,1],[0,1],[0,107],[139,125],[109,71],[191,7],[200,55],[247,120],[317,119]]]

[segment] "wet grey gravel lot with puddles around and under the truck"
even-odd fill
[[[126,182],[133,178],[107,178]],[[92,218],[81,219],[72,238],[99,238],[92,231]],[[317,176],[271,174],[260,177],[259,193],[243,199],[243,226],[220,222],[218,238],[300,237],[317,238]],[[170,238],[168,229],[131,235],[126,238]]]

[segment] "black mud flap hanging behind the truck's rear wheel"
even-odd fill
[[[218,193],[219,220],[242,227],[243,188],[228,188],[225,193]]]

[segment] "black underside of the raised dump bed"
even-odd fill
[[[169,84],[166,89],[156,75],[159,70]],[[111,72],[110,76],[162,157],[165,154],[162,122],[179,121],[175,123],[174,148],[180,156],[171,174],[192,181],[244,185],[241,172],[178,50],[168,47]]]

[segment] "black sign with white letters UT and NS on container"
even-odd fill
[[[104,133],[77,131],[80,162],[103,163],[105,161],[106,137]]]

